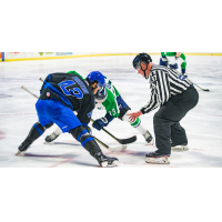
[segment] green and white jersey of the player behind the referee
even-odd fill
[[[181,67],[181,70],[185,70],[186,61],[183,53],[179,58],[175,58],[175,52],[161,52],[161,56],[168,59],[168,64],[178,63],[178,67]]]

